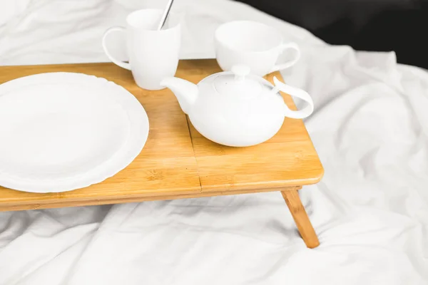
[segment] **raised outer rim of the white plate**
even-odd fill
[[[46,78],[47,76],[47,78]],[[49,84],[49,82],[39,82],[40,80],[52,81],[52,76],[57,76],[59,81],[55,83],[70,83],[73,79],[78,83],[82,81],[91,80],[91,84],[99,85],[100,88],[106,88],[110,94],[108,98],[110,99],[120,99],[116,100],[116,103],[121,105],[121,108],[125,110],[126,115],[130,123],[130,132],[126,142],[123,143],[114,155],[109,157],[105,162],[101,163],[97,167],[94,167],[88,172],[84,172],[81,175],[76,177],[66,177],[61,180],[56,180],[54,182],[40,180],[31,180],[31,179],[19,179],[16,180],[13,177],[8,177],[0,172],[0,185],[6,188],[13,190],[23,191],[23,192],[36,192],[36,193],[49,193],[49,192],[68,192],[71,190],[77,190],[84,187],[88,187],[93,184],[97,184],[106,180],[113,175],[116,175],[118,172],[126,168],[135,158],[141,153],[144,145],[146,145],[148,139],[148,133],[150,131],[150,123],[148,120],[148,115],[146,110],[143,108],[143,105],[137,100],[137,98],[126,88],[120,86],[113,81],[108,81],[106,78],[88,75],[86,73],[72,73],[72,72],[49,72],[49,73],[38,73],[30,76],[24,76],[21,78],[16,78],[11,81],[7,81],[0,85],[0,96],[4,95],[4,90],[6,93],[15,90],[16,88],[23,88],[31,85],[31,81],[36,82],[36,84]],[[64,80],[66,76],[66,80]],[[68,77],[68,78],[67,78]],[[22,84],[22,81],[29,81],[26,84]],[[131,118],[132,117],[132,118]]]

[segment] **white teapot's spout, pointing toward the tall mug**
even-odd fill
[[[196,84],[181,78],[168,77],[163,78],[161,86],[170,88],[173,91],[184,113],[188,114],[190,112],[190,108],[195,103],[196,98],[198,98],[198,86]]]

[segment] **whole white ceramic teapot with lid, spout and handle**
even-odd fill
[[[161,86],[170,88],[196,130],[221,145],[246,147],[272,138],[284,117],[302,119],[312,114],[314,105],[304,90],[287,86],[273,78],[275,86],[250,74],[248,66],[215,73],[195,85],[170,77]],[[302,110],[290,110],[279,91],[307,102]]]

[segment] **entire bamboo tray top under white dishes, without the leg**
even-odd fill
[[[318,182],[323,169],[302,120],[285,119],[271,140],[225,147],[203,138],[169,89],[138,88],[130,71],[113,63],[0,67],[0,83],[36,73],[68,71],[107,78],[138,98],[150,120],[146,146],[114,177],[62,193],[36,194],[0,187],[0,210],[138,202],[249,192],[297,190]],[[176,76],[198,83],[220,71],[215,60],[180,61]],[[282,80],[280,73],[270,74]],[[290,96],[284,95],[290,108]]]

